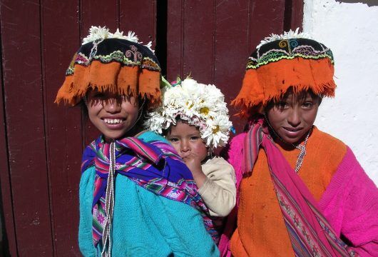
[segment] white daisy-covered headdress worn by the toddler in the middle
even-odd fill
[[[233,124],[228,116],[225,96],[214,85],[199,84],[194,79],[175,81],[164,88],[163,105],[153,112],[145,126],[156,133],[175,126],[177,119],[197,126],[206,146],[213,150],[225,146]]]

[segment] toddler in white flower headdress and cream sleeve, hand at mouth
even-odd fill
[[[150,113],[146,126],[163,134],[183,158],[210,216],[228,216],[236,202],[235,171],[225,159],[212,156],[228,142],[232,128],[220,90],[178,79],[163,91],[163,106]]]

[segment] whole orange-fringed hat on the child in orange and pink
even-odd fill
[[[298,29],[272,34],[248,58],[242,89],[231,104],[240,109],[239,116],[247,117],[251,111],[261,112],[290,88],[332,97],[333,75],[332,51],[324,44]]]

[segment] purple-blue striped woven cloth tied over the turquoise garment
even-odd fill
[[[208,208],[198,193],[192,173],[174,148],[161,141],[145,142],[128,137],[115,141],[116,174],[127,176],[148,191],[174,201],[193,206],[200,211],[206,230],[215,242],[219,241]],[[95,166],[93,192],[93,244],[97,246],[106,223],[105,199],[108,180],[110,143],[100,136],[86,147],[81,172]],[[125,217],[127,218],[127,217]]]

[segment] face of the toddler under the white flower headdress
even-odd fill
[[[184,161],[187,158],[198,158],[201,162],[208,156],[208,148],[196,126],[178,121],[176,126],[170,128],[167,139]]]

